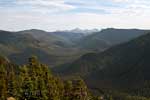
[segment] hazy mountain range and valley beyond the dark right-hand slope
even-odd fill
[[[74,29],[46,32],[31,29],[8,32],[1,30],[0,54],[7,56],[17,64],[25,63],[20,58],[26,59],[31,55],[37,55],[42,62],[54,67],[70,63],[88,52],[101,52],[113,45],[143,35],[147,31],[137,29],[104,29],[101,31]]]

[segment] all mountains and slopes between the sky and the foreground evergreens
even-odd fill
[[[36,55],[64,79],[82,77],[92,91],[117,90],[149,98],[150,31],[91,32],[1,30],[0,55],[19,65]]]

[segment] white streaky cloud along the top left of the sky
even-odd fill
[[[5,2],[5,1],[3,1]],[[8,2],[9,3],[9,2]],[[5,3],[6,4],[6,3]],[[7,4],[6,4],[7,5]],[[75,7],[72,5],[65,4],[64,0],[15,0],[13,1],[13,8],[11,5],[7,6],[7,10],[20,11],[26,10],[28,12],[47,12],[47,13],[55,13],[62,12],[74,9]],[[4,6],[5,5],[1,5]]]

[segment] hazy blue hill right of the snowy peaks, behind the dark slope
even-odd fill
[[[148,31],[149,30],[108,28],[81,38],[78,45],[81,48],[103,51],[111,46],[144,35]]]

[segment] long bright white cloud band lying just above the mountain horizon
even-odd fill
[[[62,14],[62,15],[36,15],[36,14],[8,14],[0,16],[1,29],[44,29],[48,31],[80,28],[150,28],[149,16],[124,15],[98,15],[98,14]]]

